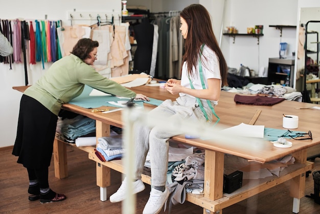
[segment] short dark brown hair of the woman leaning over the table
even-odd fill
[[[98,41],[94,41],[89,38],[82,38],[79,39],[77,44],[73,47],[72,52],[70,53],[84,60],[89,57],[89,53],[92,52],[96,47],[99,47]]]

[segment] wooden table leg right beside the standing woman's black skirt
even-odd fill
[[[62,179],[68,177],[68,166],[66,159],[66,144],[55,138],[53,142],[53,156],[55,177]]]

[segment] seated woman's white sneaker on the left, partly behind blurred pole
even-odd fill
[[[109,200],[112,203],[123,201],[126,198],[126,188],[127,188],[127,178],[122,181],[121,186],[115,194],[111,195]],[[145,189],[145,185],[142,180],[137,180],[133,182],[133,194],[141,192]]]

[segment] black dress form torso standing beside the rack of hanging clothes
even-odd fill
[[[148,18],[143,18],[141,24],[133,27],[137,43],[133,59],[133,70],[150,73],[154,26]]]

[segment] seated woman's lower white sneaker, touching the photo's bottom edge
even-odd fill
[[[161,208],[167,206],[167,200],[169,197],[169,190],[166,187],[164,192],[157,190],[155,188],[151,188],[149,200],[143,209],[143,214],[156,214],[159,213]],[[166,209],[166,208],[165,208]]]

